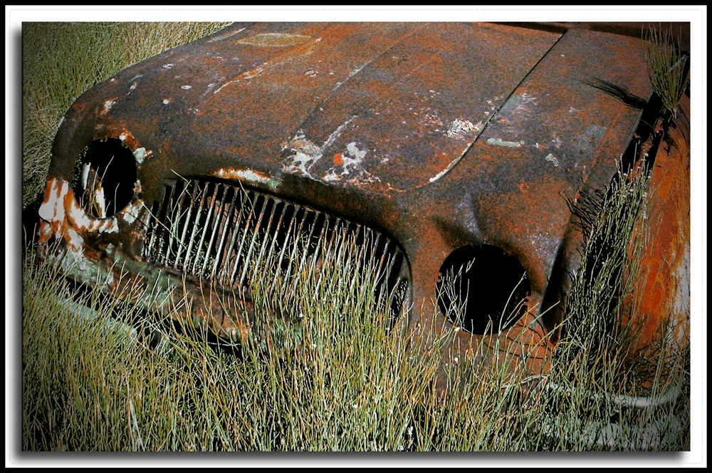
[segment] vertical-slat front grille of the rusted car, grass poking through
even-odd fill
[[[400,310],[408,284],[403,253],[384,234],[221,182],[167,182],[142,256],[222,289],[261,286],[282,308],[292,305],[300,278],[312,278],[318,290],[328,262],[351,264],[362,279],[372,271],[375,296],[392,311]]]

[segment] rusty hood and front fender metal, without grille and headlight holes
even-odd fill
[[[244,185],[397,241],[409,327],[427,333],[451,326],[435,303],[446,257],[467,244],[498,246],[528,274],[528,310],[499,337],[456,331],[444,363],[479,343],[511,351],[522,339],[538,371],[580,258],[567,199],[607,187],[637,127],[635,104],[650,94],[640,40],[585,28],[234,24],[131,66],[72,105],[53,145],[44,238],[61,234],[107,267],[119,261],[108,247],[138,264],[141,222],[166,179]],[[76,227],[67,196],[78,154],[112,137],[136,157],[132,203]]]

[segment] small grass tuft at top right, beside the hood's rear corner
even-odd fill
[[[643,58],[653,90],[663,106],[677,117],[677,105],[685,91],[687,55],[680,51],[672,33],[662,26],[649,28],[643,38]]]

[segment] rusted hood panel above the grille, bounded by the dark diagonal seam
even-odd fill
[[[412,189],[459,160],[559,37],[478,24],[235,24],[79,103],[103,121],[95,137],[121,128],[193,158],[164,163],[176,172],[262,163],[273,175]]]

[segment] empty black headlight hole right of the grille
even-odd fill
[[[513,326],[526,311],[529,278],[519,260],[498,246],[467,245],[440,266],[440,311],[454,325],[483,335]]]

